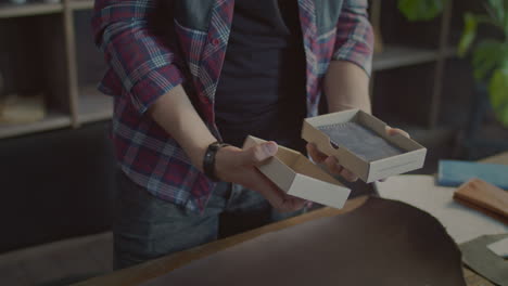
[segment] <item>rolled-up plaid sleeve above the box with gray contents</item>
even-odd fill
[[[370,76],[374,38],[367,8],[367,0],[344,0],[332,58],[352,62]]]

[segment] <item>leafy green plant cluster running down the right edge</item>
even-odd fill
[[[458,47],[460,56],[471,54],[474,78],[486,87],[497,119],[508,126],[508,0],[486,0],[485,13],[466,13]],[[493,32],[477,40],[480,25]]]

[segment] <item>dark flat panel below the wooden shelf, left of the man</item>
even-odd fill
[[[0,141],[0,252],[110,229],[109,125]]]

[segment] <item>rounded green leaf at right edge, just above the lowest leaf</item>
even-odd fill
[[[499,68],[508,60],[508,44],[496,40],[484,40],[478,43],[472,55],[474,78],[477,80],[486,77],[496,68]]]

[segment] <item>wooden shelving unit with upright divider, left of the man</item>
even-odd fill
[[[63,35],[63,54],[65,73],[58,81],[65,86],[66,112],[55,112],[51,106],[45,119],[30,123],[0,125],[0,139],[20,136],[35,132],[50,131],[61,128],[78,128],[80,125],[107,120],[113,115],[113,99],[97,91],[94,84],[79,82],[75,30],[75,13],[93,8],[92,0],[62,0],[60,3],[35,2],[25,4],[0,4],[1,21],[12,21],[15,17],[54,16],[60,18]],[[91,39],[91,38],[90,38]],[[53,96],[48,94],[48,96]],[[53,99],[54,100],[54,99]],[[50,99],[51,101],[51,99]]]

